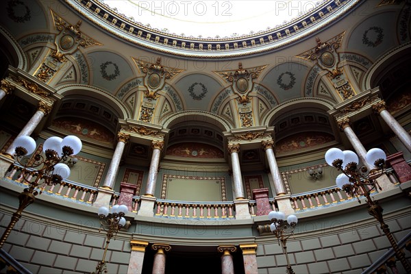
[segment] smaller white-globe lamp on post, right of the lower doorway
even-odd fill
[[[271,211],[269,213],[269,220],[273,223],[270,225],[270,230],[273,232],[279,243],[281,242],[283,253],[287,260],[287,273],[294,274],[292,271],[290,260],[288,260],[287,253],[287,240],[291,235],[294,235],[294,229],[297,225],[298,219],[295,215],[288,215],[286,219],[286,214],[281,211]]]

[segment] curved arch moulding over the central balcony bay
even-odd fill
[[[184,121],[201,121],[203,123],[210,123],[212,125],[215,125],[216,127],[219,127],[219,129],[221,129],[221,132],[227,132],[229,131],[229,129],[234,127],[234,125],[229,123],[229,121],[223,119],[220,116],[217,116],[216,114],[198,110],[187,110],[171,114],[170,116],[167,116],[163,121],[160,121],[160,125],[165,128],[171,128],[173,127],[173,125],[182,123]]]

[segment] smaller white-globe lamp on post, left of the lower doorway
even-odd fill
[[[101,206],[97,214],[99,214],[101,229],[103,229],[107,234],[107,240],[105,240],[105,249],[103,253],[103,258],[97,264],[95,272],[92,274],[101,274],[107,273],[107,262],[105,261],[105,254],[107,253],[108,245],[110,244],[111,238],[114,237],[116,239],[117,232],[122,227],[127,228],[127,221],[125,220],[124,216],[127,214],[128,208],[125,205],[115,205],[112,206],[111,210],[106,208],[105,206]]]

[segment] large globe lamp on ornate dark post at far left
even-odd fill
[[[45,186],[60,184],[70,176],[69,166],[62,162],[70,155],[79,153],[82,149],[82,141],[73,135],[65,138],[57,136],[47,138],[43,144],[44,155],[36,153],[32,158],[25,157],[36,150],[36,141],[32,137],[20,136],[14,140],[12,146],[16,164],[12,164],[7,173],[12,171],[14,166],[20,166],[21,182],[28,184],[29,187],[18,195],[18,209],[13,213],[8,227],[0,238],[0,248],[21,218],[23,210],[35,201],[36,195],[40,195]]]

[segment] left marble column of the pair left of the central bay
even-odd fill
[[[112,161],[110,162],[110,166],[108,167],[107,175],[105,175],[103,188],[114,188],[116,175],[119,171],[121,156],[123,156],[124,147],[125,144],[127,144],[127,142],[129,141],[129,138],[129,134],[125,134],[123,132],[119,132],[117,134],[118,142],[116,145],[116,150],[114,150]]]

